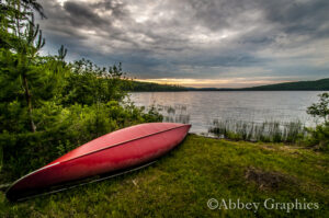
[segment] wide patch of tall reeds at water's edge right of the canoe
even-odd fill
[[[266,142],[297,142],[306,135],[299,122],[245,122],[232,119],[214,119],[208,133],[219,138]]]

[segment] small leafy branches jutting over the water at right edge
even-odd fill
[[[320,117],[325,119],[325,124],[328,124],[329,119],[329,93],[322,93],[318,95],[320,97],[319,103],[315,103],[307,108],[307,114],[314,117]]]

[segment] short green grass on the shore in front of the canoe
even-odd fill
[[[97,184],[10,203],[0,217],[329,217],[329,154],[284,146],[189,135],[155,164]],[[257,213],[214,209],[209,198],[261,203]],[[318,203],[313,210],[268,210],[276,203]]]

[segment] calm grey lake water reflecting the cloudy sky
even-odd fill
[[[134,92],[137,106],[154,105],[168,122],[190,123],[190,133],[207,133],[214,119],[281,123],[300,121],[314,126],[306,108],[318,101],[316,91]]]

